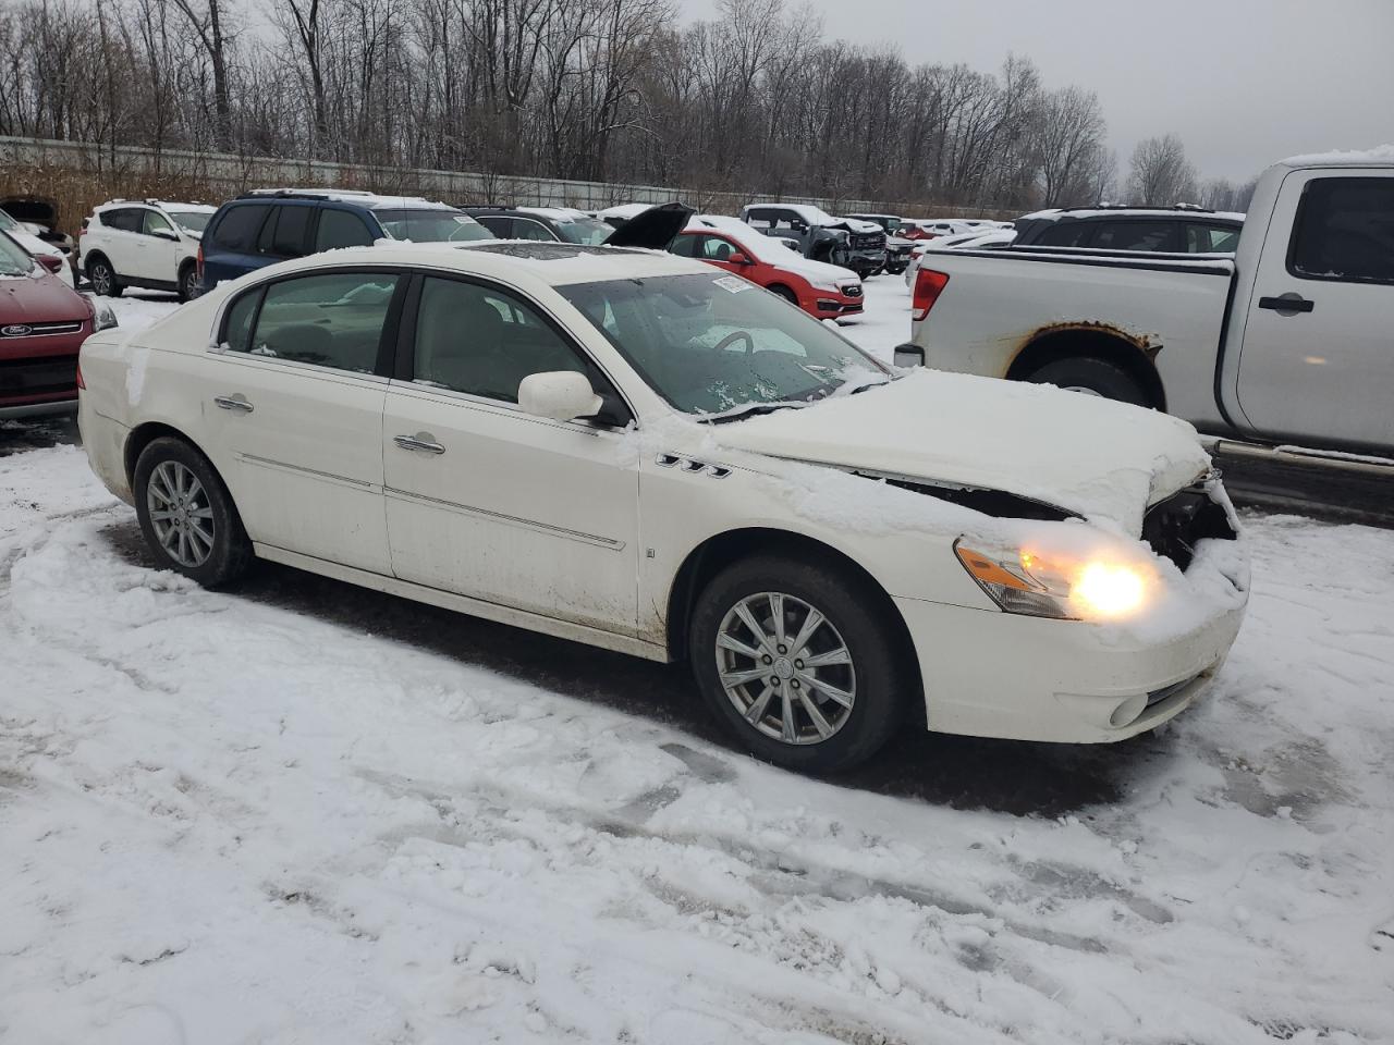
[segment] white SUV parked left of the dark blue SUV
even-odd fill
[[[188,301],[198,293],[198,245],[216,210],[162,199],[103,203],[78,237],[78,268],[98,294],[117,297],[125,287],[146,287],[173,290]]]

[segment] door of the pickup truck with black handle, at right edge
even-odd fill
[[[1241,408],[1273,438],[1394,446],[1394,171],[1292,171],[1269,230]]]

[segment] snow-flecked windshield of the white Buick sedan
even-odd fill
[[[811,403],[889,379],[860,348],[739,276],[661,276],[558,291],[686,414]]]

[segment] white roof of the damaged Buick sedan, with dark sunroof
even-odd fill
[[[712,273],[710,265],[664,251],[588,247],[537,240],[489,240],[464,244],[382,242],[311,254],[273,266],[280,274],[342,265],[431,265],[500,281],[526,276],[553,287],[577,283]],[[265,272],[265,269],[262,270]],[[719,273],[718,273],[719,274]]]

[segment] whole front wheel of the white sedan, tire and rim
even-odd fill
[[[693,674],[756,757],[804,772],[850,769],[903,723],[913,688],[891,612],[852,570],[779,555],[743,559],[697,596]]]

